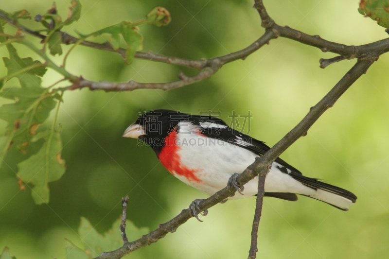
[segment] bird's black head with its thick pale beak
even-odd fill
[[[143,113],[123,134],[126,138],[139,138],[158,154],[164,138],[177,130],[180,121],[188,120],[188,114],[172,110],[152,110]]]

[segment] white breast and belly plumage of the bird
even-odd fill
[[[188,185],[212,195],[226,187],[230,176],[242,173],[258,155],[242,147],[230,144],[221,139],[207,138],[198,133],[195,126],[185,122],[179,124],[177,135],[178,154],[181,163],[198,170],[196,176],[201,182],[188,181],[184,176],[176,175]],[[312,190],[277,169],[277,163],[266,176],[266,192],[306,193]],[[245,195],[236,193],[232,198],[246,198],[257,193],[258,177],[245,185]]]

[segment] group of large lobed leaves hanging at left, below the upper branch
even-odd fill
[[[61,97],[41,87],[41,77],[47,70],[43,63],[31,57],[20,58],[12,44],[7,44],[6,48],[9,58],[4,57],[3,62],[8,73],[0,81],[1,85],[15,77],[20,87],[4,88],[0,92],[2,98],[14,101],[0,107],[0,119],[8,122],[5,134],[0,136],[0,163],[11,145],[16,145],[26,157],[18,164],[18,178],[33,186],[32,196],[36,204],[48,203],[48,183],[65,173],[65,161],[61,158],[59,130],[55,130],[54,124],[52,129],[38,129],[59,105]],[[30,144],[38,140],[43,140],[38,153],[28,154]],[[31,156],[27,158],[27,155]]]

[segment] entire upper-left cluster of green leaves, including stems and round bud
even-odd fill
[[[74,44],[65,55],[62,66],[57,66],[46,55],[46,47],[52,55],[63,53],[61,29],[76,22],[81,17],[82,6],[80,1],[71,0],[70,5],[65,19],[58,14],[55,3],[45,14],[35,16],[35,21],[41,23],[44,27],[41,32],[47,34],[42,41],[43,48],[41,50],[28,41],[19,29],[16,35],[4,33],[4,26],[10,20],[13,21],[13,25],[18,27],[19,19],[31,19],[28,11],[21,10],[15,13],[2,11],[8,19],[0,17],[0,47],[5,46],[9,54],[9,57],[3,58],[7,75],[0,78],[0,97],[13,101],[0,107],[0,119],[8,123],[4,135],[0,136],[0,165],[11,146],[16,146],[24,154],[25,159],[18,163],[16,174],[22,190],[25,189],[24,184],[31,187],[32,197],[36,204],[49,202],[48,183],[58,180],[65,173],[65,161],[61,157],[60,127],[55,125],[59,104],[63,102],[59,93],[63,93],[64,90],[53,88],[55,84],[43,88],[42,77],[47,69],[51,68],[62,74],[64,76],[63,80],[76,84],[77,77],[65,70],[65,62],[69,53],[77,44]],[[110,35],[109,44],[114,50],[118,50],[123,45],[121,44],[122,41],[124,42],[126,63],[129,64],[133,61],[135,53],[142,49],[143,38],[139,33],[138,26],[141,24],[164,26],[169,24],[170,20],[170,14],[166,9],[156,7],[141,20],[135,22],[123,21],[88,35],[80,34],[81,38],[78,43],[91,36],[108,34]],[[31,51],[40,55],[44,62],[33,60],[31,57],[20,57],[13,45],[14,43],[20,43],[30,48]],[[5,83],[13,78],[17,78],[19,87],[3,88]],[[52,127],[41,127],[55,107],[57,109]],[[36,154],[30,154],[29,147],[35,142],[40,144],[41,147]]]

